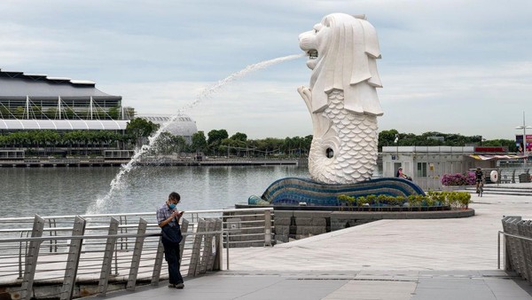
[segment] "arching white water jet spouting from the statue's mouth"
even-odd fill
[[[196,98],[191,103],[179,109],[177,111],[177,114],[170,117],[168,122],[164,122],[160,126],[159,130],[155,131],[155,133],[153,133],[153,136],[148,138],[148,141],[149,141],[148,145],[144,145],[140,148],[135,149],[135,154],[131,156],[131,159],[129,160],[127,164],[121,165],[120,171],[111,181],[111,184],[110,184],[111,189],[109,190],[109,192],[106,194],[105,197],[98,199],[96,203],[94,203],[88,209],[87,214],[98,214],[100,212],[100,210],[104,207],[106,202],[113,198],[113,194],[116,193],[116,191],[121,189],[121,186],[122,186],[121,179],[124,177],[124,175],[129,173],[130,170],[133,170],[136,163],[140,160],[143,154],[145,154],[146,152],[150,150],[150,148],[153,146],[153,143],[155,143],[157,138],[160,137],[160,134],[164,132],[172,122],[176,122],[177,118],[182,113],[184,113],[185,111],[189,109],[192,109],[192,107],[195,107],[198,103],[200,103],[201,100],[209,99],[213,94],[215,94],[216,91],[220,90],[227,83],[231,83],[253,71],[257,71],[265,67],[270,67],[270,66],[276,65],[286,60],[299,59],[303,56],[305,56],[305,54],[288,55],[288,56],[280,57],[277,59],[265,60],[265,61],[253,64],[253,65],[249,65],[243,68],[242,70],[240,70],[239,72],[235,72],[223,78],[222,80],[218,81],[214,85],[207,87],[206,89],[203,89],[202,91],[200,91],[200,93],[196,96]]]

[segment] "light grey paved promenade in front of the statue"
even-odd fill
[[[182,290],[162,285],[106,298],[532,299],[525,280],[497,270],[501,218],[532,219],[532,199],[472,199],[474,217],[381,220],[271,248],[231,249],[229,271],[185,280]]]

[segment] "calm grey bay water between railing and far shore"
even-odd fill
[[[0,168],[0,217],[83,215],[109,192],[119,167]],[[180,210],[227,209],[262,195],[280,178],[309,178],[307,167],[136,167],[98,213],[155,211],[168,193]]]

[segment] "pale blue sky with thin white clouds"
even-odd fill
[[[513,139],[532,127],[529,0],[90,0],[0,2],[0,68],[96,82],[138,114],[188,114],[198,130],[312,134],[297,88],[298,36],[332,12],[376,28],[379,130]],[[532,129],[529,131],[532,133]]]

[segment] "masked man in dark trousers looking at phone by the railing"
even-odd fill
[[[164,257],[168,263],[168,276],[170,284],[168,288],[184,288],[183,277],[179,268],[181,257],[179,256],[179,243],[183,240],[179,218],[184,211],[176,210],[176,205],[181,200],[179,193],[172,192],[168,195],[168,201],[157,210],[157,223],[161,229],[162,246]]]

